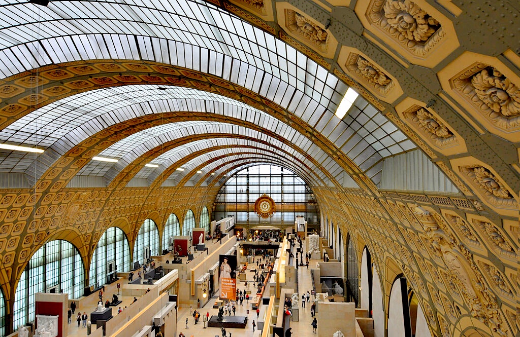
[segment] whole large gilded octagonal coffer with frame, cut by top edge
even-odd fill
[[[426,0],[358,1],[354,11],[368,31],[412,64],[434,68],[460,45],[451,20]]]

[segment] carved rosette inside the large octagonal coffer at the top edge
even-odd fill
[[[388,24],[401,34],[400,39],[427,41],[439,28],[437,20],[409,0],[386,1],[383,11]]]

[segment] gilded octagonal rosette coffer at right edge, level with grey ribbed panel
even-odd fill
[[[459,177],[495,212],[518,217],[518,195],[491,167],[474,157],[450,160]]]

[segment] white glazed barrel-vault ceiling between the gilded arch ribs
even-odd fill
[[[384,157],[415,148],[361,97],[343,119],[337,118],[334,112],[348,89],[343,82],[274,36],[203,1],[53,1],[48,7],[25,1],[0,1],[2,78],[53,63],[99,59],[172,64],[248,88],[321,132],[376,184]],[[0,131],[0,142],[41,147],[46,150],[46,158],[50,158],[45,161],[50,166],[53,158],[110,125],[168,111],[207,112],[248,120],[280,134],[313,157],[332,177],[341,177],[339,165],[300,132],[244,103],[190,88],[159,90],[152,85],[128,85],[79,93],[45,105],[7,126]],[[102,176],[110,181],[146,151],[198,132],[238,132],[272,142],[317,170],[293,147],[259,131],[194,119],[132,134],[99,154],[118,158],[118,163],[93,161],[80,174]],[[151,160],[157,161],[159,168],[143,169],[137,177],[152,179],[181,155],[196,151],[197,144],[183,147],[184,153],[180,149],[168,150]],[[268,149],[267,145],[255,146]],[[201,155],[197,163],[211,156]],[[279,156],[283,160],[287,155]],[[0,159],[0,171],[30,174],[34,163],[34,154],[12,152]],[[193,167],[197,166],[195,163]],[[317,175],[327,180],[323,172],[317,171]],[[316,177],[309,180],[316,181]]]

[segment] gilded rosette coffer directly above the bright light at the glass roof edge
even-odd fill
[[[394,76],[356,48],[343,46],[337,63],[346,74],[382,101],[393,103],[403,93]]]

